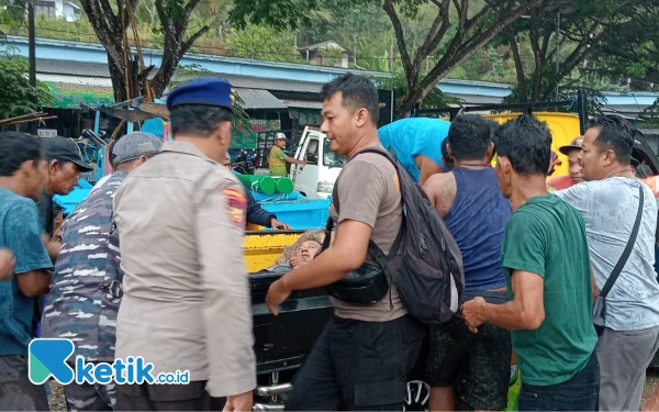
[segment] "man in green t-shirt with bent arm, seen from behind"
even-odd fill
[[[551,134],[522,115],[498,132],[496,177],[513,215],[501,248],[510,301],[462,305],[472,332],[512,330],[522,372],[520,412],[597,409],[600,365],[592,321],[593,278],[579,212],[547,192]]]

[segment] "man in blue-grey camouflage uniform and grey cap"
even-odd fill
[[[77,356],[87,361],[114,360],[123,272],[119,236],[113,231],[112,200],[127,174],[157,155],[161,145],[152,134],[125,135],[112,152],[112,178],[64,222],[62,250],[44,308],[42,337],[71,339],[76,345],[71,363]],[[116,403],[113,383],[71,382],[64,392],[72,412],[112,411]]]

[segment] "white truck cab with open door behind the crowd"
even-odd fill
[[[306,165],[291,165],[290,178],[297,191],[310,199],[332,196],[334,182],[347,158],[330,149],[330,141],[315,127],[304,127],[295,151],[295,159]]]

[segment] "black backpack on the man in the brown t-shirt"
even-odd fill
[[[403,201],[403,221],[395,242],[387,256],[372,241],[369,254],[396,286],[401,302],[418,321],[439,324],[459,310],[465,290],[462,255],[425,192],[391,155],[377,147],[359,152],[377,153],[395,167]],[[333,197],[334,198],[334,197]],[[338,212],[338,198],[335,209]],[[399,247],[403,250],[399,254]]]

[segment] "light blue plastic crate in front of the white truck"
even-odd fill
[[[323,229],[330,218],[330,199],[297,199],[261,202],[261,208],[277,214],[277,220],[294,230]]]

